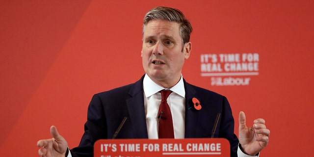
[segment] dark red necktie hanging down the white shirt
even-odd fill
[[[161,92],[161,103],[158,111],[158,137],[159,138],[175,138],[173,132],[172,116],[170,107],[167,104],[167,98],[172,91],[162,90]]]

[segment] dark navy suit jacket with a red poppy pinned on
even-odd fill
[[[111,139],[127,117],[116,138],[148,138],[143,95],[143,78],[133,84],[95,94],[88,106],[87,122],[79,146],[71,150],[73,157],[93,157],[98,139]],[[185,138],[210,138],[218,113],[221,113],[214,137],[227,138],[231,156],[236,157],[238,139],[234,134],[234,118],[226,97],[187,83],[185,88]],[[193,107],[197,98],[201,110]]]

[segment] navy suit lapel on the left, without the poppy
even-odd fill
[[[144,108],[143,78],[144,76],[134,83],[129,92],[131,98],[126,100],[132,128],[135,131],[135,138],[148,138]]]

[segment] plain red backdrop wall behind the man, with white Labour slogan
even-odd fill
[[[229,99],[236,134],[243,110],[271,130],[262,157],[312,156],[313,0],[2,0],[1,156],[38,156],[51,125],[77,146],[92,95],[144,74],[142,19],[161,5],[190,20],[183,77]]]

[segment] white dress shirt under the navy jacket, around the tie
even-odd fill
[[[158,110],[161,103],[161,93],[165,89],[156,84],[145,75],[143,80],[144,106],[146,114],[146,125],[149,139],[158,139]],[[167,98],[171,110],[175,138],[184,138],[185,119],[185,90],[183,78],[173,87],[167,89],[172,93]]]

